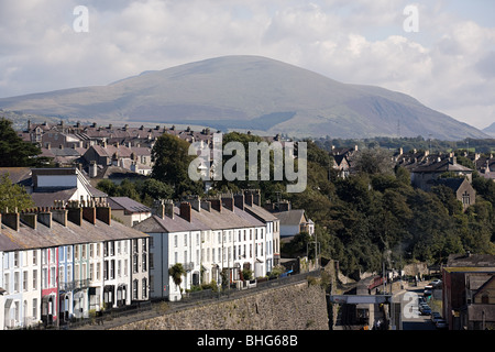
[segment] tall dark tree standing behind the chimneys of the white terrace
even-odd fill
[[[196,158],[189,155],[189,143],[173,134],[162,134],[152,150],[154,162],[152,178],[174,187],[174,196],[201,195],[202,183],[189,178],[189,164]]]

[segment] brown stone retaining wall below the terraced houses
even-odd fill
[[[114,330],[328,330],[320,285],[307,282],[128,323]]]

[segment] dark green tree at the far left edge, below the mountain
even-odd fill
[[[12,121],[0,120],[0,167],[35,166],[41,148],[24,142],[12,128]]]

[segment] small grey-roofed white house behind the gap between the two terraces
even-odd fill
[[[151,208],[129,197],[109,197],[108,205],[112,209],[112,217],[127,227],[132,228],[152,216]]]

